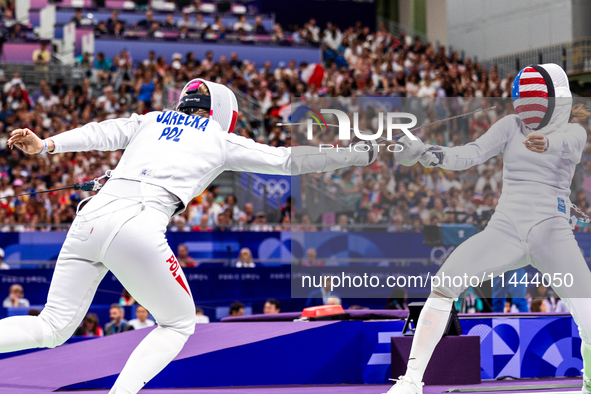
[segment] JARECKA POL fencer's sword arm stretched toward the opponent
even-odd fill
[[[323,149],[313,146],[277,148],[259,144],[236,134],[225,135],[224,168],[276,175],[299,175],[310,172],[332,171],[348,166],[366,166],[368,152]],[[372,160],[375,160],[376,154]]]

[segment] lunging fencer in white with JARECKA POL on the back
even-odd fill
[[[233,133],[237,111],[231,90],[197,79],[183,88],[176,110],[89,123],[46,140],[28,129],[11,133],[9,147],[28,154],[125,152],[105,186],[76,216],[41,315],[0,320],[0,352],[64,343],[110,270],[158,323],[110,390],[137,393],[195,329],[191,291],[165,238],[174,214],[225,170],[297,175],[365,166],[377,157],[376,145],[368,142],[360,142],[357,152],[259,144]]]

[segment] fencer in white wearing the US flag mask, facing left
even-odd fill
[[[498,120],[476,141],[423,149],[423,166],[447,170],[465,170],[503,153],[502,194],[488,226],[463,242],[437,275],[481,277],[486,272],[497,276],[528,264],[551,278],[571,274],[572,286],[552,283],[579,327],[583,392],[589,393],[591,307],[584,297],[589,297],[591,273],[569,224],[570,185],[587,133],[569,121],[591,113],[580,104],[572,106],[568,78],[556,64],[521,70],[512,85],[512,99],[516,114]],[[408,160],[404,151],[398,155]],[[449,282],[432,289],[417,323],[406,374],[388,394],[422,393],[423,374],[443,335],[452,303],[465,289]]]

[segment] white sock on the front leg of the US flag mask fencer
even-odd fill
[[[427,364],[443,336],[452,304],[451,298],[431,295],[421,311],[406,369],[406,376],[417,384],[423,381]]]

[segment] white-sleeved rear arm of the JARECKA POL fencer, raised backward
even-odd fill
[[[87,123],[52,136],[55,149],[51,153],[125,149],[141,122],[142,115],[133,114],[129,118]]]

